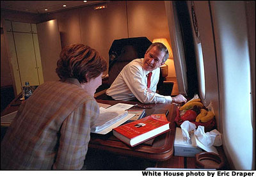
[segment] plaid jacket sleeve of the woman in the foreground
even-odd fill
[[[88,150],[91,125],[99,116],[99,105],[95,100],[77,107],[63,121],[60,129],[60,141],[53,169],[81,169]]]

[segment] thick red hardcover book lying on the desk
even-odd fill
[[[165,114],[152,114],[137,121],[113,128],[113,135],[121,141],[136,146],[170,130]]]

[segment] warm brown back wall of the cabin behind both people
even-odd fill
[[[116,39],[146,36],[153,41],[161,37],[170,43],[164,1],[108,1],[105,4],[106,9],[84,6],[45,14],[42,20],[58,20],[62,47],[84,43],[98,50],[107,63],[109,48]],[[175,77],[173,62],[167,61],[167,65],[168,77]]]

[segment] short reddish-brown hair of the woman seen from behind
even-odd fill
[[[106,70],[107,63],[99,52],[87,45],[73,44],[61,51],[56,73],[60,79],[76,78],[82,84]]]

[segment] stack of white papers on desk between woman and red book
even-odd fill
[[[134,105],[131,104],[115,104],[107,109],[100,107],[99,117],[95,120],[91,132],[96,134],[107,134],[113,128],[118,127],[135,114],[128,114],[127,109]]]

